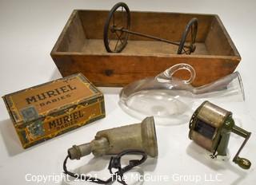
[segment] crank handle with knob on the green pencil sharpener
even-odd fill
[[[245,158],[240,158],[238,155],[242,151],[242,148],[244,148],[244,146],[246,145],[247,140],[249,140],[250,132],[247,132],[246,130],[244,130],[242,128],[239,128],[236,125],[234,125],[234,127],[231,130],[231,132],[234,132],[238,136],[242,136],[243,138],[245,138],[245,140],[243,141],[241,147],[238,149],[238,152],[236,153],[236,155],[234,155],[233,162],[237,163],[238,166],[242,167],[243,169],[249,169],[250,165],[251,165],[250,160],[249,159],[245,159]]]

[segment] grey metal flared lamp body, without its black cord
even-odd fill
[[[68,150],[68,153],[70,159],[80,159],[91,152],[100,156],[118,154],[128,149],[141,150],[152,157],[158,155],[154,117],[146,117],[139,124],[130,124],[97,132],[95,139],[90,143],[74,145]]]

